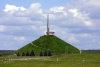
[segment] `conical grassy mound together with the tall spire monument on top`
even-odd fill
[[[80,50],[50,32],[49,15],[47,15],[46,35],[30,42],[16,51],[17,56],[53,56],[80,53]]]

